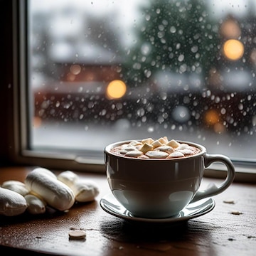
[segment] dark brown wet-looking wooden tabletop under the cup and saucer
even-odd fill
[[[1,168],[0,183],[24,181],[29,171],[31,168]],[[102,210],[100,198],[110,193],[104,175],[77,174],[98,184],[96,200],[75,203],[65,213],[48,210],[43,215],[0,215],[1,255],[23,250],[26,255],[256,255],[255,184],[233,183],[213,197],[215,208],[206,215],[178,225],[148,225],[130,223]],[[85,230],[86,238],[70,240],[70,230]]]

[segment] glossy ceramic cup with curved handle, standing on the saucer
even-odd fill
[[[207,154],[200,144],[178,141],[196,146],[200,152],[176,159],[137,159],[111,152],[114,147],[129,142],[106,146],[104,156],[110,189],[117,201],[134,216],[169,218],[188,203],[222,193],[233,183],[235,169],[228,156]],[[221,162],[227,167],[225,181],[199,191],[203,171],[213,162]]]

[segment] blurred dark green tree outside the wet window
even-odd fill
[[[156,72],[198,73],[206,77],[218,52],[218,24],[207,1],[151,0],[142,6],[137,43],[126,56],[124,80],[141,84]]]

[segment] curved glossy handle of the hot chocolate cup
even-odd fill
[[[210,183],[210,186],[206,188],[204,191],[198,191],[196,195],[191,200],[191,203],[201,200],[203,198],[208,198],[210,196],[218,195],[227,189],[235,178],[235,167],[233,166],[232,161],[228,158],[228,156],[220,155],[220,154],[206,154],[204,156],[204,165],[207,168],[213,162],[221,162],[225,164],[228,169],[228,174],[223,183],[220,183],[219,186],[216,186],[215,183]]]

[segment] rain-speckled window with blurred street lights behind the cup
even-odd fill
[[[107,144],[168,136],[253,169],[255,1],[20,5],[25,158],[102,169]]]

